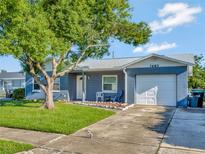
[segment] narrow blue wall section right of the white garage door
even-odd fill
[[[187,106],[188,72],[177,75],[177,105]]]

